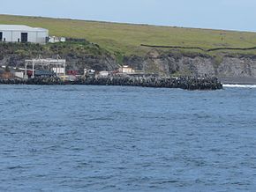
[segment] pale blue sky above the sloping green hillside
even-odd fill
[[[256,32],[256,0],[7,0],[0,13]]]

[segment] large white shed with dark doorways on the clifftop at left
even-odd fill
[[[0,41],[45,44],[49,30],[20,25],[0,25]]]

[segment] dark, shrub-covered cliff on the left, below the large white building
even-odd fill
[[[55,58],[60,55],[67,61],[67,70],[84,69],[116,70],[115,58],[108,52],[94,44],[49,44],[47,46],[35,44],[0,44],[0,66],[24,68],[26,59]]]

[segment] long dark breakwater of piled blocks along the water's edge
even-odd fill
[[[79,78],[75,81],[63,81],[60,78],[29,78],[0,79],[0,84],[10,85],[123,85],[155,88],[181,88],[185,90],[217,90],[222,89],[222,83],[217,78],[191,78],[191,77],[98,77]]]

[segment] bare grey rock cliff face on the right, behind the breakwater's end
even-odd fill
[[[154,50],[145,58],[126,57],[124,63],[138,70],[158,71],[165,75],[207,75],[230,83],[256,83],[256,55],[216,57],[200,54],[161,54]]]

